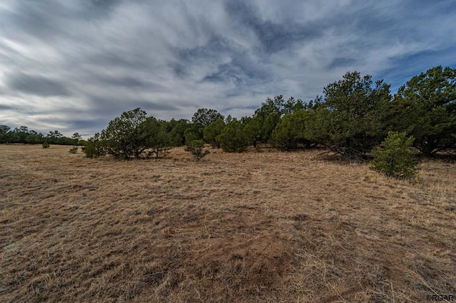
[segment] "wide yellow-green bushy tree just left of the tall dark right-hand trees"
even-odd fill
[[[299,110],[284,115],[274,128],[269,142],[273,147],[281,150],[293,150],[311,147],[312,142],[305,138],[306,120],[309,112]]]

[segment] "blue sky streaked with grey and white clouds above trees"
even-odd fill
[[[0,124],[87,137],[135,107],[242,117],[353,70],[395,93],[456,67],[455,20],[454,0],[1,0]]]

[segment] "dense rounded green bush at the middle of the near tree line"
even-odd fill
[[[222,134],[217,136],[217,142],[223,151],[245,151],[249,146],[249,136],[245,131],[245,125],[239,120],[233,119],[224,127]]]

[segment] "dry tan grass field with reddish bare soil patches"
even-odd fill
[[[425,302],[456,294],[456,164],[320,151],[85,159],[0,146],[0,302]]]

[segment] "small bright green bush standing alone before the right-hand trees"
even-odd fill
[[[410,150],[413,137],[405,132],[388,132],[381,146],[373,151],[371,169],[396,179],[410,179],[417,172],[418,161],[415,152]]]

